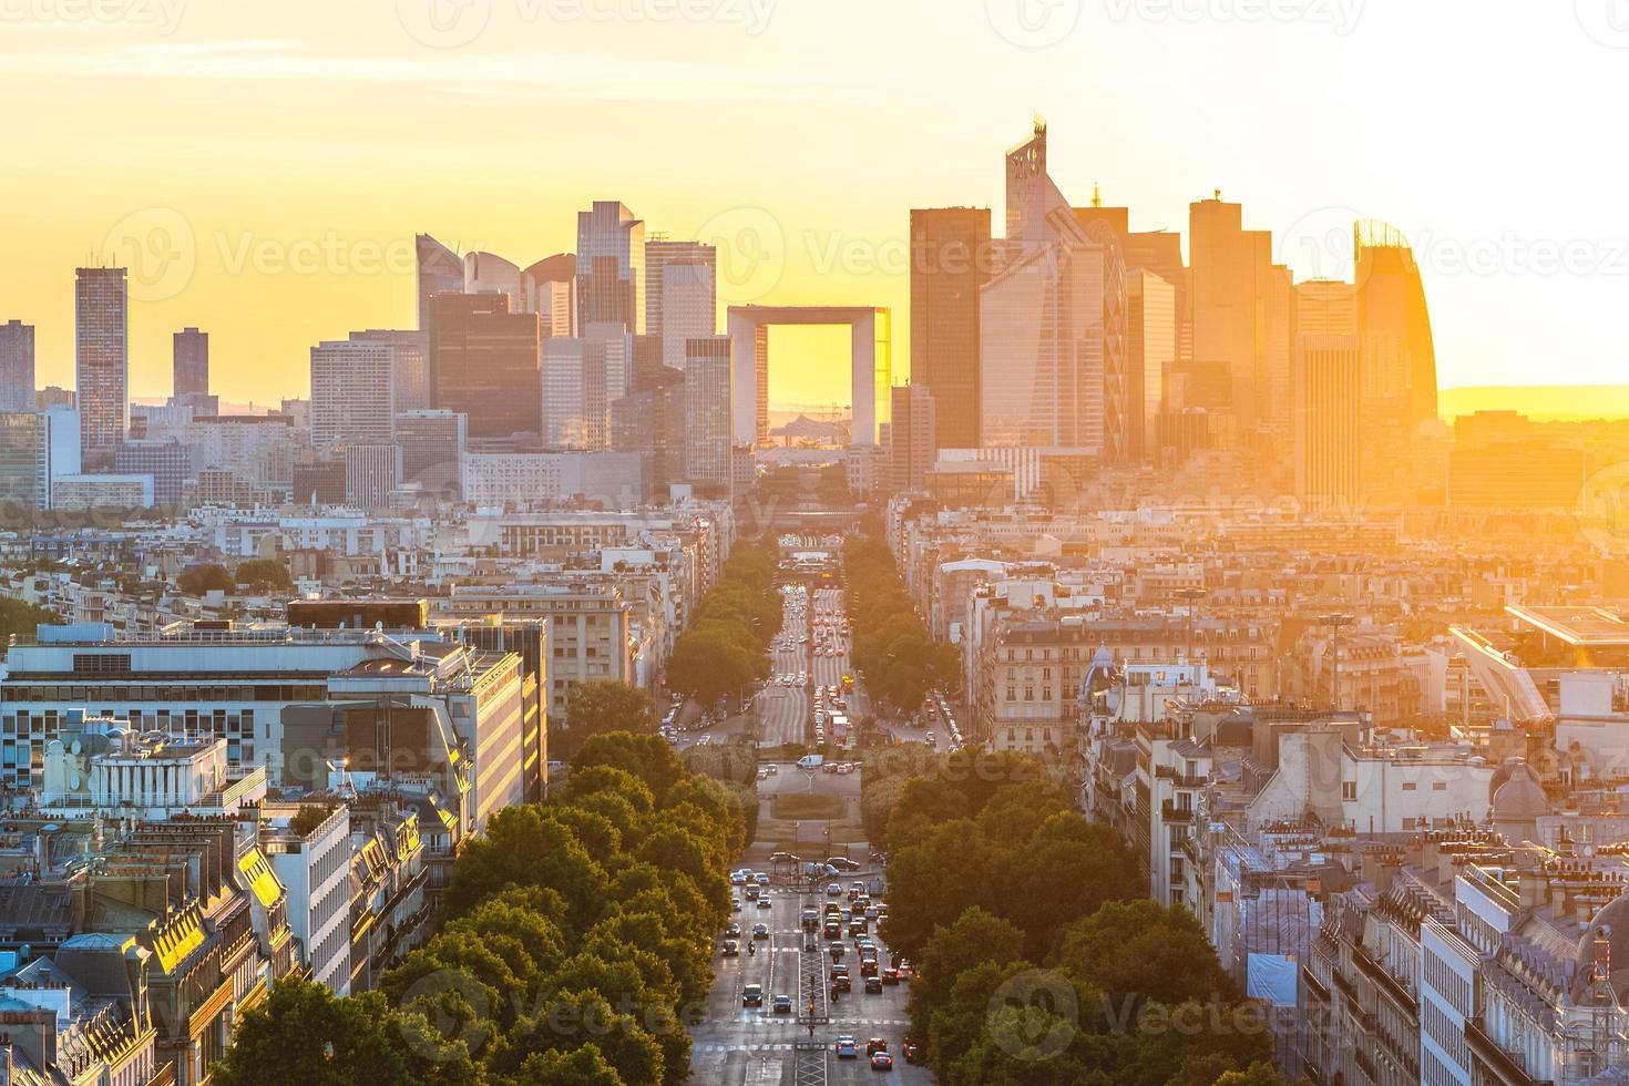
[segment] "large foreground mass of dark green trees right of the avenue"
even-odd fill
[[[888,944],[945,1086],[1279,1084],[1262,1008],[1039,762],[950,755],[888,812]],[[889,780],[885,777],[885,782]]]

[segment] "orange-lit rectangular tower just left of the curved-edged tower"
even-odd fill
[[[1362,495],[1360,340],[1302,335],[1297,361],[1295,493],[1311,508],[1352,508]]]

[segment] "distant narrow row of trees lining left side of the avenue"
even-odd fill
[[[668,658],[668,689],[702,705],[769,677],[766,648],[780,632],[779,552],[771,539],[741,541],[696,607]]]

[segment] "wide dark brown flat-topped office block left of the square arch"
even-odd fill
[[[430,407],[469,418],[469,436],[538,433],[542,415],[536,313],[507,295],[438,295],[430,306]]]

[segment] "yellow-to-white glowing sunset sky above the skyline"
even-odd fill
[[[415,231],[525,265],[593,199],[735,239],[722,304],[893,306],[902,376],[909,208],[1000,221],[1036,114],[1137,230],[1222,189],[1302,278],[1399,226],[1445,388],[1629,371],[1622,0],[0,0],[0,322],[39,384],[106,252],[140,251],[134,396],[195,324],[266,404],[311,344],[411,327]],[[831,344],[777,340],[777,399],[845,399]]]

